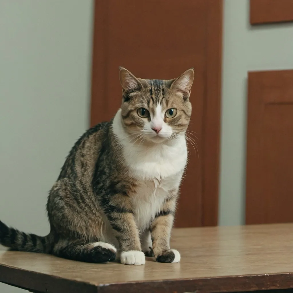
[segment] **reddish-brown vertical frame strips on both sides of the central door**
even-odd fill
[[[118,0],[117,0],[118,1]],[[196,0],[195,0],[196,1]],[[220,117],[221,117],[221,73],[222,73],[222,21],[223,1],[206,0],[208,9],[207,19],[207,51],[205,100],[202,136],[202,226],[216,226],[218,223],[219,202],[219,146],[220,146]],[[97,5],[98,3],[98,5]],[[106,25],[103,13],[103,1],[95,0],[94,4],[94,32],[92,59],[92,87],[91,87],[91,118],[90,125],[96,123],[93,109],[100,109],[100,120],[103,117],[106,101],[96,99],[97,88],[93,86],[101,79],[101,72],[106,63],[103,58],[107,48],[103,46],[106,38],[103,26]],[[102,110],[101,110],[102,109]]]

